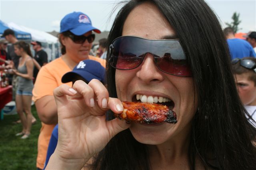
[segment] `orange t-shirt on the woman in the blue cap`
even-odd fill
[[[93,57],[89,55],[90,60],[98,61],[102,66],[106,67],[106,60],[100,59],[98,57]],[[62,76],[66,72],[72,71],[68,65],[62,60],[62,57],[55,59],[54,61],[42,66],[38,72],[36,82],[33,88],[33,98],[32,100],[36,102],[38,99],[44,96],[53,96],[53,90],[63,84],[61,82]],[[72,87],[72,82],[65,83]],[[36,167],[43,169],[44,162],[46,160],[46,153],[52,135],[54,125],[47,125],[42,123],[40,129],[40,134],[38,137],[38,154],[36,158]]]

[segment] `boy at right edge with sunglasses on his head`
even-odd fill
[[[247,116],[254,120],[250,122],[256,127],[256,58],[236,58],[232,64],[240,99],[249,113]]]

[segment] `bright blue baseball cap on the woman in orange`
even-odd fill
[[[74,35],[83,35],[88,31],[100,33],[100,30],[92,26],[90,18],[82,12],[72,12],[64,16],[60,21],[60,33],[71,31]]]

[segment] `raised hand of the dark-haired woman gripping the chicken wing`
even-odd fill
[[[58,108],[58,144],[47,168],[81,169],[84,164],[120,131],[129,125],[114,119],[106,121],[108,109],[122,113],[117,98],[109,98],[108,91],[99,80],[86,84],[82,80],[73,88],[63,84],[54,90]],[[55,161],[54,161],[55,160]],[[58,166],[58,167],[56,167]],[[64,166],[64,167],[63,167]]]

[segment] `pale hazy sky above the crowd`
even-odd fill
[[[0,20],[5,23],[38,29],[59,31],[60,20],[68,13],[83,12],[92,25],[101,31],[109,31],[120,6],[118,0],[0,0]],[[242,21],[238,32],[256,31],[256,0],[206,0],[219,17],[222,27],[232,21],[234,12]],[[117,10],[114,10],[114,9]]]

